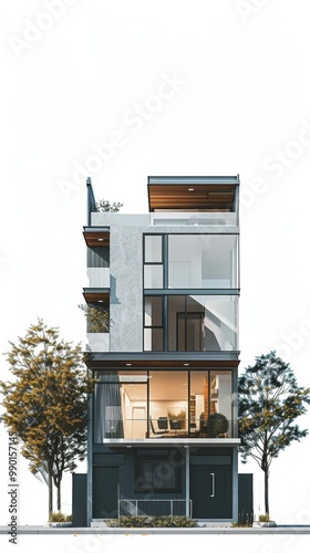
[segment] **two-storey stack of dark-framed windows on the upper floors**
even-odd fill
[[[237,234],[145,234],[144,351],[238,349],[238,285]]]

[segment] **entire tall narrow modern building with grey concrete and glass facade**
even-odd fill
[[[149,212],[87,180],[87,524],[238,520],[239,176],[148,177]]]

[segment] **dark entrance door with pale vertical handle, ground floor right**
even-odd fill
[[[231,465],[192,465],[190,499],[194,519],[231,519]]]

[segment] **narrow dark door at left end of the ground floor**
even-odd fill
[[[118,517],[118,467],[93,468],[93,519]]]

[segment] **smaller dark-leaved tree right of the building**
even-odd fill
[[[308,435],[296,419],[307,411],[310,388],[299,387],[288,363],[271,351],[256,357],[239,377],[241,461],[255,459],[264,471],[265,511],[269,513],[269,469],[272,459]]]

